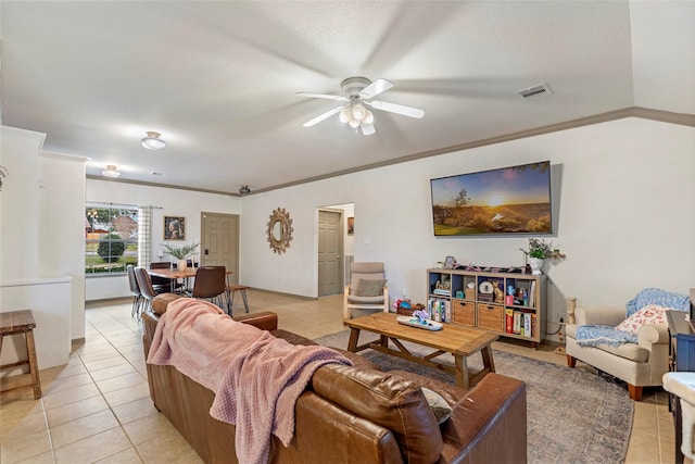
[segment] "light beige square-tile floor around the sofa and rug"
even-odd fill
[[[342,296],[312,300],[249,290],[249,301],[251,312],[274,311],[281,328],[311,339],[344,329]],[[242,311],[235,305],[235,314]],[[67,365],[40,373],[43,398],[34,400],[31,389],[0,397],[0,462],[200,463],[152,406],[140,337],[129,300],[88,303],[85,341],[75,343]],[[494,348],[565,364],[545,343]],[[672,463],[673,435],[666,393],[647,390],[635,403],[626,462]]]

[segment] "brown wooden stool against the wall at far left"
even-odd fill
[[[16,363],[0,365],[0,371],[28,364],[29,365],[28,375],[31,377],[30,384],[8,388],[7,390],[0,390],[0,393],[4,391],[14,390],[16,388],[33,387],[34,399],[38,400],[39,398],[41,398],[41,381],[39,380],[39,368],[36,362],[36,347],[34,344],[35,327],[36,327],[36,322],[34,322],[34,314],[31,314],[30,310],[0,313],[0,352],[2,351],[2,339],[5,335],[24,334],[24,340],[26,342],[26,354],[27,354],[27,360],[17,361]]]

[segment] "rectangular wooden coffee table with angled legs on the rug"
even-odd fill
[[[351,328],[348,351],[356,353],[371,348],[372,350],[434,367],[454,374],[456,376],[456,385],[466,389],[475,386],[488,373],[495,372],[492,348],[490,347],[498,338],[495,334],[454,324],[444,324],[441,330],[426,330],[399,324],[396,316],[396,314],[391,313],[375,313],[345,321],[345,325]],[[380,336],[379,340],[358,346],[357,340],[359,339],[361,330],[378,334]],[[389,340],[393,342],[397,350],[389,347]],[[434,351],[430,354],[418,356],[410,353],[402,341],[410,341],[433,348]],[[471,375],[468,372],[468,356],[479,351],[482,355],[483,368]],[[454,367],[433,361],[433,358],[444,353],[452,353]]]

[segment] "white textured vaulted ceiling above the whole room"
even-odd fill
[[[236,195],[635,106],[695,114],[691,1],[3,1],[0,21],[2,124],[126,181]],[[294,93],[351,76],[425,117],[303,127],[340,102]]]

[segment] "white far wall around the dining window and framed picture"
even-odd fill
[[[156,206],[152,210],[151,261],[170,261],[167,254],[163,260],[157,256],[164,242],[165,215],[186,217],[186,243],[192,243],[200,242],[202,211],[222,214],[240,214],[241,211],[238,197],[99,179],[87,179],[86,201]],[[240,224],[243,224],[243,217]],[[87,301],[130,296],[126,276],[90,276],[86,280]]]

